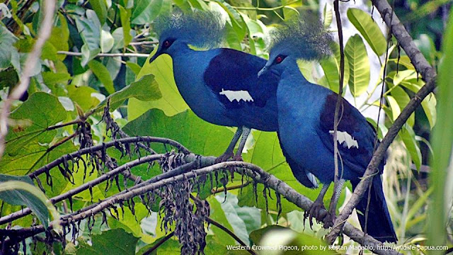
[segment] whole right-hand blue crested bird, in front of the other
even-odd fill
[[[270,57],[258,76],[272,74],[277,86],[278,135],[292,172],[297,179],[305,172],[316,176],[323,184],[321,193],[310,208],[318,215],[324,208],[323,197],[334,180],[333,116],[338,94],[317,84],[311,84],[299,71],[297,60],[319,60],[329,54],[331,37],[319,21],[293,20],[275,30]],[[372,158],[376,133],[365,117],[348,101],[341,98],[337,142],[339,150],[339,181],[328,210],[333,221],[336,204],[345,180],[355,189]],[[290,164],[291,165],[291,164]],[[360,200],[356,210],[362,229],[381,242],[396,242],[394,226],[382,190],[381,174],[373,177],[369,193]],[[301,174],[302,171],[302,174]],[[303,184],[303,183],[302,183]],[[367,210],[367,199],[369,207]],[[365,219],[367,211],[368,219]],[[321,215],[323,217],[323,215]]]

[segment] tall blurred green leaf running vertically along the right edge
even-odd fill
[[[450,11],[451,13],[451,11]],[[442,51],[444,57],[439,67],[437,78],[439,103],[437,111],[439,118],[432,132],[432,147],[434,156],[430,160],[432,171],[430,173],[430,185],[434,192],[429,203],[429,220],[426,222],[428,228],[428,245],[447,244],[448,215],[452,201],[452,149],[453,149],[453,16],[450,15],[449,23],[443,36]],[[441,249],[432,251],[431,254],[445,254]]]

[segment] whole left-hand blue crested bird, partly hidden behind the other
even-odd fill
[[[250,128],[277,130],[277,81],[270,74],[257,76],[266,60],[237,50],[189,47],[213,47],[219,41],[223,25],[215,13],[172,15],[160,18],[154,26],[159,47],[150,62],[161,54],[170,55],[176,86],[193,112],[209,123],[238,127],[219,161],[232,156],[242,135],[234,157],[241,159]]]

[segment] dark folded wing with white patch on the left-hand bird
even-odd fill
[[[275,96],[278,82],[270,77],[258,79],[258,72],[265,63],[263,58],[245,52],[220,49],[210,61],[203,78],[226,109],[263,107],[270,97]]]

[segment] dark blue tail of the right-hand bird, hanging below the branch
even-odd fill
[[[359,184],[359,179],[351,181],[352,190]],[[370,193],[370,199],[368,204],[368,195]],[[368,215],[365,219],[365,213]],[[384,191],[382,190],[381,176],[377,175],[373,178],[372,187],[365,192],[365,195],[360,200],[355,208],[360,212],[357,212],[359,217],[360,226],[362,230],[380,242],[396,242],[394,225],[391,223],[389,209],[387,208],[386,200],[384,198]],[[365,227],[366,225],[366,227]]]

